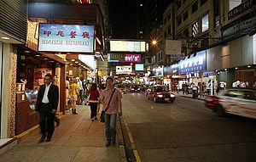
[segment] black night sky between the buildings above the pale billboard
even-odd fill
[[[152,3],[158,3],[156,13],[160,15],[160,19],[162,19],[162,14],[172,0],[109,0],[109,21],[113,29],[113,38],[137,38],[137,26],[142,23],[142,20],[140,22],[138,21],[138,17],[142,15],[142,13],[139,13],[139,5],[141,2],[144,2],[143,8],[146,8],[145,6],[152,5]],[[145,5],[146,2],[147,5]],[[154,11],[149,10],[148,12],[153,13]],[[143,20],[150,19],[143,18]],[[150,28],[150,26],[148,26],[150,22],[143,22],[143,24],[143,28]]]

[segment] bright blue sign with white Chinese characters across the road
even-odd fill
[[[191,55],[190,58],[188,58],[187,56],[178,63],[179,74],[205,70],[207,70],[206,51],[196,53],[195,57]]]

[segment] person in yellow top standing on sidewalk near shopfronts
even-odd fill
[[[77,115],[77,100],[78,100],[78,95],[79,95],[79,85],[77,84],[77,79],[73,78],[73,82],[70,85],[70,102],[71,102],[71,109],[72,109],[72,114]]]

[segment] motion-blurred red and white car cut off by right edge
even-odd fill
[[[217,101],[218,100],[218,101]],[[230,88],[218,92],[216,100],[209,104],[217,115],[225,114],[241,115],[256,119],[256,90],[248,88]]]

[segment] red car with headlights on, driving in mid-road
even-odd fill
[[[154,85],[150,87],[146,97],[154,100],[154,103],[163,101],[171,101],[171,103],[173,103],[176,98],[175,94],[170,92],[170,90],[164,85]]]

